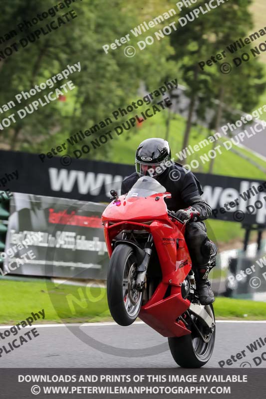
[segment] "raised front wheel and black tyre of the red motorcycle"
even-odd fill
[[[137,260],[130,245],[114,249],[107,273],[107,300],[114,321],[129,326],[138,317],[143,291],[135,288]]]

